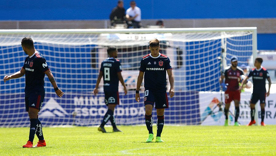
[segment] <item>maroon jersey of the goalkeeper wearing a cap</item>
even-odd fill
[[[222,75],[225,76],[225,84],[228,84],[227,91],[239,90],[240,76],[244,75],[243,69],[237,67],[236,70],[233,70],[231,66],[228,66]]]

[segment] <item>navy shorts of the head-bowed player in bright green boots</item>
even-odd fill
[[[151,90],[145,90],[144,105],[152,105],[156,109],[169,108],[167,93],[159,93]]]

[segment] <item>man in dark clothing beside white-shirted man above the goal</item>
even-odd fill
[[[119,0],[118,5],[113,8],[109,19],[112,26],[115,26],[117,23],[125,23],[125,8],[122,0]]]

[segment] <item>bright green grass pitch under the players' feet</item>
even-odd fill
[[[22,148],[29,128],[0,128],[0,155],[275,155],[276,125],[168,126],[163,143],[145,143],[146,126],[118,126],[124,133],[97,127],[44,127],[46,147]],[[156,126],[153,127],[156,135]],[[37,142],[34,139],[34,144]],[[155,140],[154,140],[155,141]]]

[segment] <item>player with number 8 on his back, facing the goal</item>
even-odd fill
[[[128,91],[121,74],[121,62],[115,59],[118,57],[118,50],[114,46],[110,46],[107,48],[107,53],[109,55],[109,58],[105,59],[102,62],[97,84],[93,91],[94,95],[98,94],[98,87],[103,77],[105,104],[107,105],[108,110],[105,113],[102,124],[98,128],[98,131],[106,133],[104,126],[107,123],[107,121],[110,120],[113,127],[113,132],[122,132],[117,128],[115,123],[115,117],[113,115],[116,105],[119,105],[119,80],[124,87],[125,95]]]

